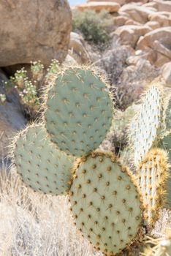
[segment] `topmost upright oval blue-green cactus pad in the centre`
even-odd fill
[[[47,91],[45,127],[67,154],[81,157],[98,148],[112,116],[105,83],[91,69],[65,69]]]

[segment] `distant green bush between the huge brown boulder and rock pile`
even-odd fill
[[[104,46],[109,42],[108,27],[113,24],[111,15],[105,11],[73,12],[72,31],[80,31],[88,42]]]

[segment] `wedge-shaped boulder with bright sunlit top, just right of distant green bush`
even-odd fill
[[[116,29],[113,34],[118,35],[122,45],[131,45],[134,48],[138,39],[149,31],[149,26],[125,25]]]

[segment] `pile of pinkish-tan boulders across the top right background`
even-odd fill
[[[146,59],[156,67],[171,61],[171,1],[88,0],[75,9],[110,12],[111,36],[134,48],[134,58]]]

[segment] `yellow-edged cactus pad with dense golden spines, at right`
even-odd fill
[[[169,165],[167,152],[152,148],[137,168],[137,181],[145,202],[145,219],[149,227],[159,217],[159,209],[164,206],[167,197]]]

